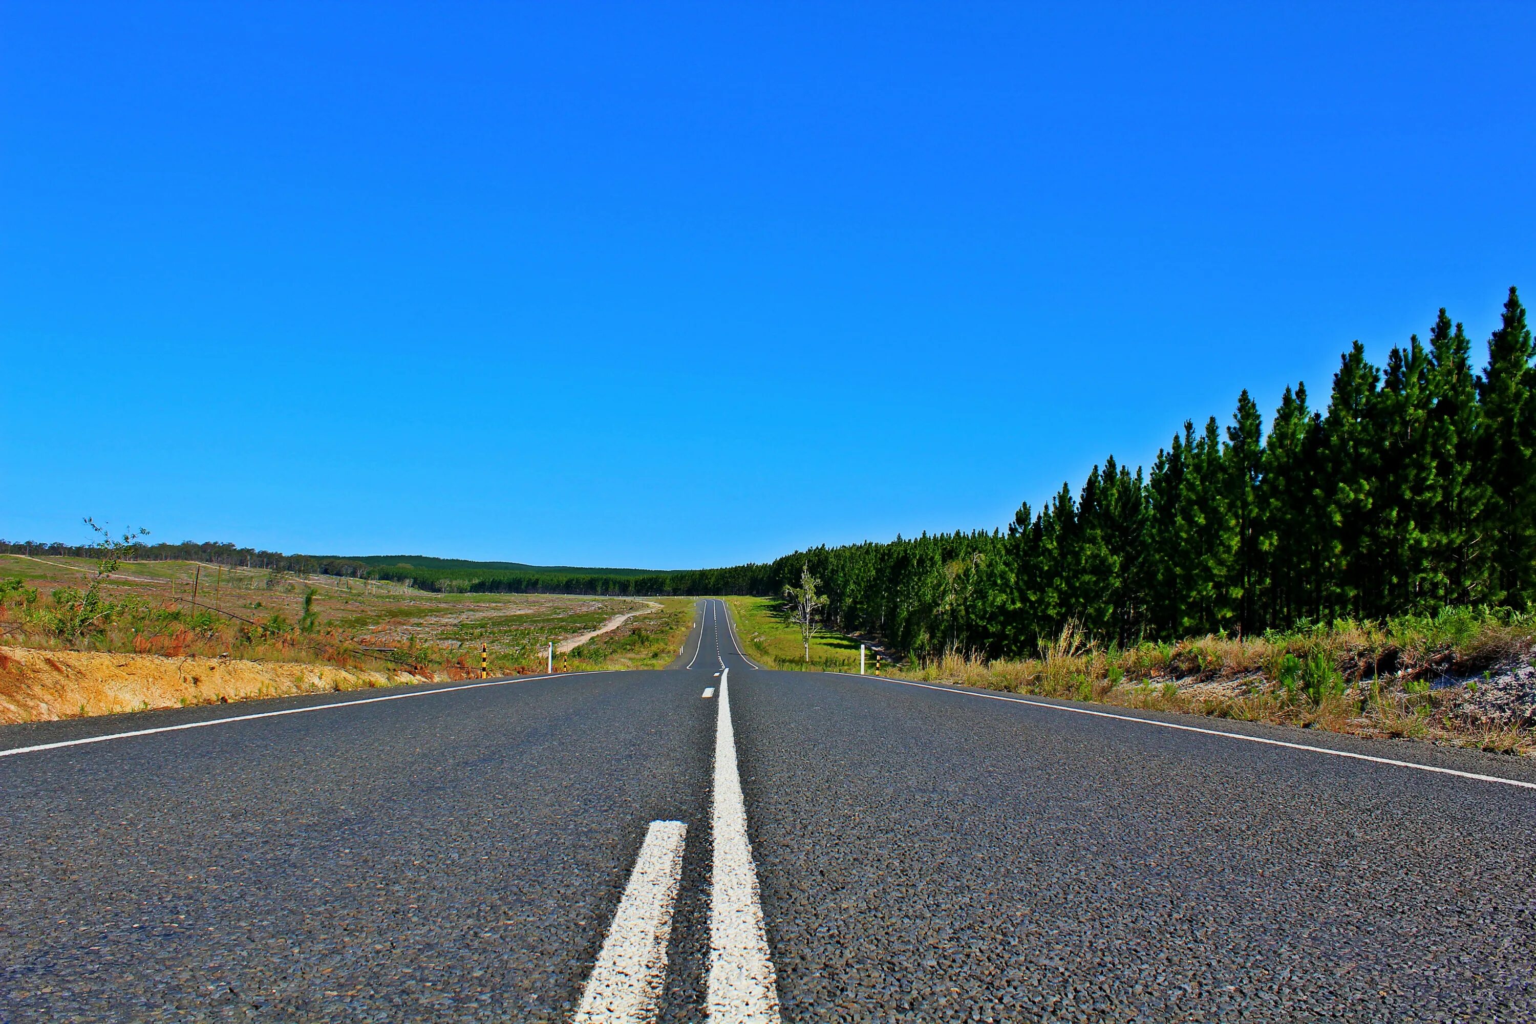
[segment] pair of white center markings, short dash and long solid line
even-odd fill
[[[736,768],[730,669],[720,671],[714,726],[714,863],[710,875],[710,978],[713,1024],[779,1024],[779,995],[746,840],[746,804]],[[578,1024],[656,1019],[667,975],[667,941],[682,878],[687,827],[651,821],[641,855],[587,979]]]

